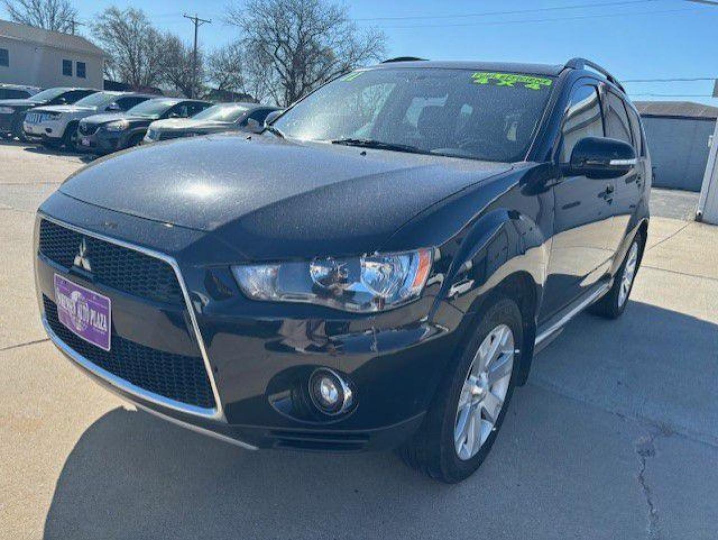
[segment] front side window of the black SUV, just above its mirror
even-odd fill
[[[579,140],[602,136],[605,135],[597,88],[592,85],[574,88],[561,128],[561,163],[571,160],[571,153]]]

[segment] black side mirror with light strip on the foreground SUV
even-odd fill
[[[595,179],[617,178],[631,172],[636,164],[630,144],[607,137],[585,137],[574,146],[567,172]]]

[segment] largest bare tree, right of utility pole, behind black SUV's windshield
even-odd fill
[[[241,29],[254,75],[280,105],[380,58],[386,42],[382,32],[359,32],[345,6],[326,0],[249,0],[230,7],[227,20]]]

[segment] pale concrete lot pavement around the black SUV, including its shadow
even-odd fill
[[[39,323],[31,236],[82,165],[0,144],[0,538],[718,536],[718,227],[654,216],[625,316],[572,322],[485,465],[447,486],[391,454],[247,452],[70,366]]]

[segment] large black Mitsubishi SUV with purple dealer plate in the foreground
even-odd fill
[[[37,215],[42,321],[172,422],[251,449],[398,447],[455,482],[536,351],[586,307],[623,313],[650,171],[587,60],[385,62],[264,134],[67,180]]]

